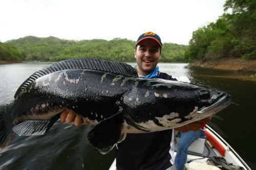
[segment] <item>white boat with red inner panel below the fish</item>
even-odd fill
[[[179,142],[179,132],[175,131],[177,143],[175,143],[174,159]],[[116,160],[109,170],[116,170]],[[227,168],[228,167],[228,168]],[[246,162],[234,151],[231,146],[212,128],[206,125],[205,139],[199,138],[191,143],[188,148],[186,170],[219,170],[238,169],[250,170]]]

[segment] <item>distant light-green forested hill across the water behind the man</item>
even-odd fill
[[[7,41],[15,46],[26,57],[25,61],[61,61],[71,58],[97,58],[109,61],[135,62],[135,41],[115,38],[107,41],[92,40],[64,40],[56,37],[38,38],[27,36]],[[164,43],[161,62],[183,62],[187,45]],[[1,55],[0,55],[0,60]]]

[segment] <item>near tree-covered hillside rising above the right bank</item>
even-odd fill
[[[256,59],[256,1],[227,0],[224,14],[193,32],[185,60]]]

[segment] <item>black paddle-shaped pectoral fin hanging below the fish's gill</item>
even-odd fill
[[[117,114],[102,120],[95,125],[87,134],[87,139],[93,148],[99,150],[101,154],[110,152],[115,144],[124,139],[121,134],[123,114],[122,109]]]

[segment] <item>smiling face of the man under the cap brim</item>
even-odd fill
[[[140,75],[149,75],[157,66],[161,56],[159,44],[150,38],[142,40],[134,51],[137,61],[137,72]]]

